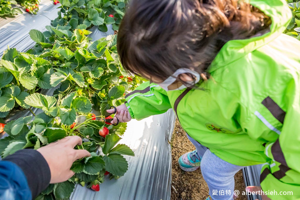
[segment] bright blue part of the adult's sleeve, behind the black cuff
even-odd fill
[[[9,161],[0,161],[0,199],[32,199],[22,169]]]

